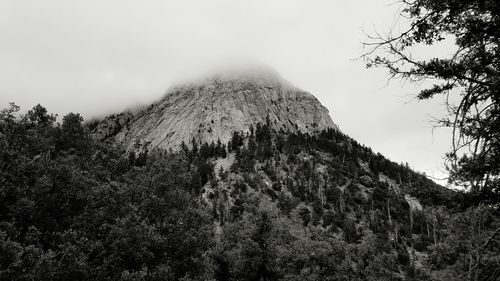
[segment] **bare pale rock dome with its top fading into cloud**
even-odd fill
[[[310,93],[272,71],[217,75],[169,90],[138,113],[106,117],[93,130],[97,139],[114,139],[128,149],[177,150],[182,142],[227,143],[233,131],[248,132],[265,123],[276,129],[312,133],[338,129],[328,110]]]

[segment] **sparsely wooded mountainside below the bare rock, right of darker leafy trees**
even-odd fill
[[[239,176],[220,183],[210,197],[224,235],[216,259],[218,280],[248,280],[244,276],[254,276],[250,280],[464,277],[455,273],[467,271],[469,249],[455,244],[468,241],[466,226],[471,219],[470,210],[462,211],[469,204],[463,194],[435,184],[407,164],[375,155],[335,130],[312,136],[276,132],[267,122],[246,134],[233,133],[231,143],[237,144],[230,146],[236,155],[231,171]],[[319,167],[326,171],[318,171]],[[379,179],[380,173],[396,186]],[[220,188],[228,185],[229,190]],[[405,194],[420,199],[424,209],[410,206]],[[270,206],[264,208],[265,214],[262,204]],[[274,211],[269,213],[269,208]],[[487,243],[499,221],[494,219],[495,210],[480,210],[488,223],[478,238]],[[251,225],[255,232],[245,228]],[[294,229],[306,234],[297,237]],[[336,243],[341,249],[334,254],[338,259],[332,261],[331,248],[324,256],[315,256],[316,250],[307,248],[314,244],[311,239],[324,243],[323,247]],[[295,243],[305,248],[297,249]],[[284,249],[294,255],[288,256],[290,252]],[[500,251],[486,252],[493,257]],[[248,259],[251,264],[245,263]],[[488,268],[498,265],[495,258],[485,259],[484,264]]]

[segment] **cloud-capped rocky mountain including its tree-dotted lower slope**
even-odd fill
[[[216,280],[445,272],[431,270],[440,263],[432,247],[453,229],[445,221],[458,194],[343,134],[313,95],[274,72],[178,86],[91,127],[95,138],[124,146],[136,177],[156,181],[143,184],[164,188],[183,175],[177,181],[210,210]]]

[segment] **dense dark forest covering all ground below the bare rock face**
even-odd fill
[[[339,131],[268,120],[125,151],[56,121],[0,112],[0,280],[467,280],[471,259],[500,276],[496,206]]]

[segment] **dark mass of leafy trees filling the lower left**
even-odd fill
[[[94,142],[78,114],[56,124],[41,106],[18,110],[0,112],[1,280],[211,275],[212,220],[184,157],[130,161]]]

